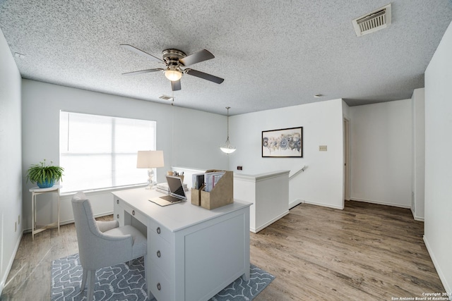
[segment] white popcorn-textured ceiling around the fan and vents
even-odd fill
[[[349,105],[408,99],[452,20],[451,0],[395,0],[392,24],[357,37],[352,19],[387,0],[0,0],[0,28],[23,78],[168,104],[161,68],[119,47],[215,59],[184,75],[174,104],[225,115],[343,98]],[[1,68],[1,66],[0,66]],[[314,94],[323,97],[314,98]]]

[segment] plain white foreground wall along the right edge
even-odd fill
[[[425,71],[424,241],[452,293],[452,23]]]

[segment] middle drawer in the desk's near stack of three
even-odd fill
[[[174,253],[169,242],[161,238],[157,233],[150,231],[150,245],[148,258],[154,262],[167,276],[171,279],[172,262],[174,261]]]

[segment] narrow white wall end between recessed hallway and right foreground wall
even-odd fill
[[[424,220],[425,185],[425,97],[424,88],[416,89],[411,97],[412,106],[412,215]]]

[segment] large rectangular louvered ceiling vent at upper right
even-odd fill
[[[356,18],[352,23],[358,37],[382,30],[391,25],[391,4]]]

